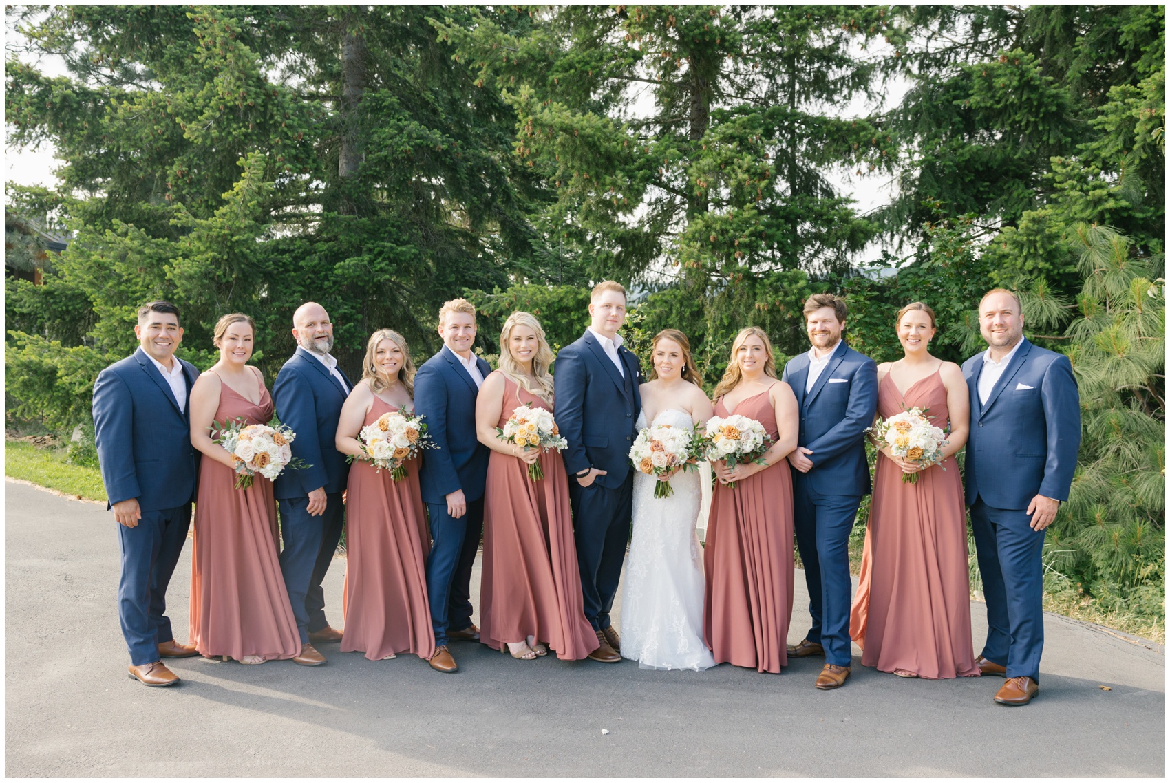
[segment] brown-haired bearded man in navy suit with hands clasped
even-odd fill
[[[845,344],[848,310],[833,294],[804,305],[812,349],[784,366],[783,379],[800,405],[792,494],[797,548],[808,584],[812,629],[789,655],[825,655],[817,687],[845,685],[849,646],[849,533],[862,496],[869,494],[865,432],[878,411],[878,365]]]

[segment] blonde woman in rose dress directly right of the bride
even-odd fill
[[[792,474],[784,458],[797,447],[797,398],[777,380],[772,343],[757,327],[736,335],[715,387],[715,415],[731,414],[764,425],[772,446],[764,465],[711,465],[718,485],[703,552],[704,638],[720,664],[779,674],[792,618]]]

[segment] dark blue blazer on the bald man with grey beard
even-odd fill
[[[342,372],[340,368],[337,369]],[[350,389],[349,376],[342,372]],[[292,427],[292,456],[300,456],[309,467],[284,471],[273,482],[273,495],[281,499],[304,497],[324,487],[326,493],[343,492],[350,475],[345,455],[337,451],[335,438],[337,421],[346,393],[337,378],[319,359],[303,348],[297,348],[273,384],[273,404],[281,424]]]

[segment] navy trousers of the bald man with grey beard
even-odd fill
[[[321,631],[325,619],[325,591],[321,588],[337,542],[342,540],[345,506],[342,493],[325,494],[325,511],[310,516],[309,497],[281,497],[281,573],[292,604],[292,617],[301,631],[301,644]]]

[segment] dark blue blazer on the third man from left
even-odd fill
[[[479,357],[475,366],[484,378],[491,373],[491,365]],[[475,437],[479,393],[472,376],[446,345],[415,373],[414,412],[426,417],[427,433],[439,446],[422,454],[422,502],[446,503],[447,495],[457,489],[469,502],[483,497],[490,449]]]

